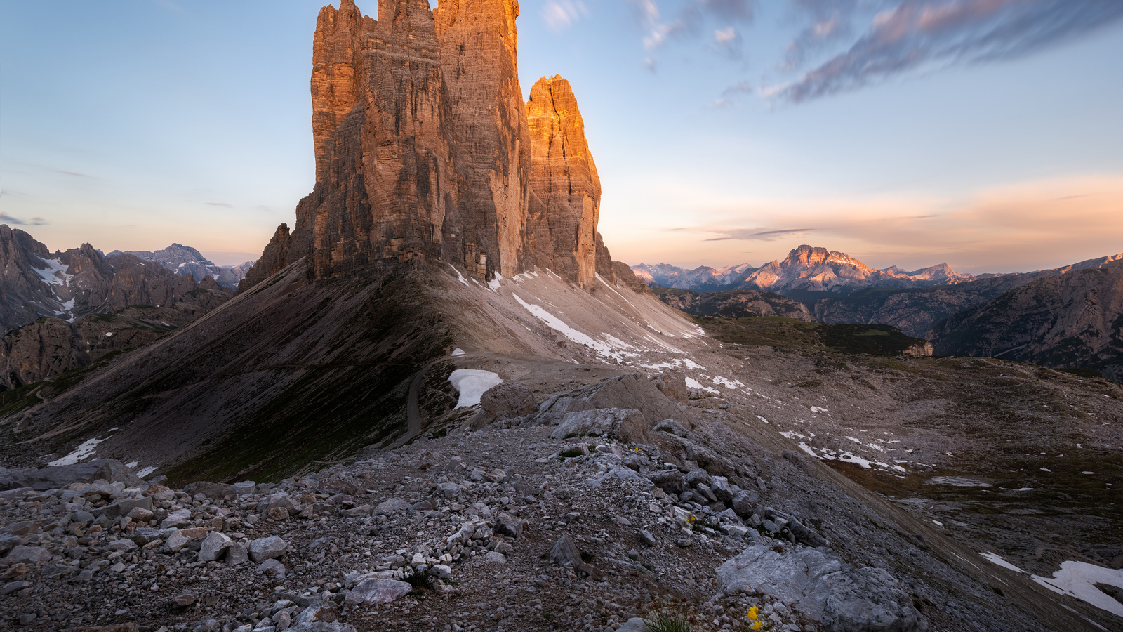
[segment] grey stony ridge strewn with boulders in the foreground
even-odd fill
[[[496,390],[484,415],[505,417],[519,389]],[[777,488],[809,478],[794,453],[721,424],[541,408],[277,485],[171,489],[116,461],[2,471],[4,623],[602,631],[658,611],[697,631],[750,629],[758,606],[766,630],[912,631],[943,616],[923,585],[848,563],[824,521],[778,508],[794,488]]]

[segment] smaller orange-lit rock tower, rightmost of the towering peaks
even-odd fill
[[[537,262],[588,287],[596,282],[601,179],[569,82],[541,78],[527,102],[530,227]],[[611,262],[609,262],[611,265]]]

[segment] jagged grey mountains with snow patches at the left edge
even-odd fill
[[[29,234],[0,226],[3,305],[0,390],[144,346],[231,296],[128,253],[90,244],[52,254]]]

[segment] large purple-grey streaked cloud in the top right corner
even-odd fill
[[[844,9],[844,4],[838,7]],[[841,20],[843,11],[834,17]],[[849,49],[795,81],[761,93],[792,102],[806,101],[919,69],[1019,57],[1120,20],[1120,0],[901,0],[875,15],[867,31]],[[814,28],[829,35],[836,28],[831,24],[820,22]],[[788,60],[800,61],[811,39],[812,35],[801,35],[789,47]]]

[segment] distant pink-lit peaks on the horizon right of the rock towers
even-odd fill
[[[947,286],[975,278],[956,272],[947,263],[912,272],[896,265],[876,270],[846,253],[807,245],[793,250],[783,261],[776,260],[760,268],[741,263],[685,270],[667,263],[640,263],[632,270],[652,287],[694,291],[767,290],[800,299],[804,292],[848,295],[861,288]]]

